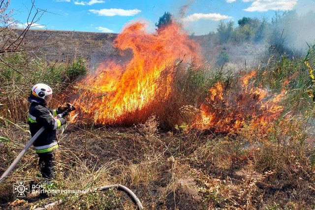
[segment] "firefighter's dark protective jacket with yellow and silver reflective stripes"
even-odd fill
[[[58,148],[56,141],[56,129],[66,123],[63,118],[54,119],[58,114],[62,113],[59,110],[52,110],[44,102],[32,102],[29,110],[29,125],[31,135],[42,127],[45,127],[43,133],[33,143],[37,153],[44,153]]]

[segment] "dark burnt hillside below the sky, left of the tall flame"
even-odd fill
[[[16,29],[17,33],[22,30]],[[98,33],[65,30],[29,30],[25,36],[31,55],[46,62],[67,63],[73,60],[88,61],[95,69],[105,59],[119,59],[119,52],[113,48],[115,33]]]

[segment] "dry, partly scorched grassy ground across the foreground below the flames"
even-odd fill
[[[7,138],[0,143],[0,158],[4,160],[0,161],[0,174],[22,150],[21,144],[30,139],[23,131],[28,126],[20,126],[0,127],[1,136]],[[286,151],[272,144],[246,153],[238,141],[233,141],[235,134],[194,131],[184,135],[156,128],[148,131],[141,126],[113,128],[79,122],[61,132],[55,189],[81,190],[119,183],[130,188],[145,209],[152,210],[315,206],[314,167],[308,166],[304,154],[300,159],[290,155],[291,150],[281,154]],[[271,161],[276,161],[274,169],[259,172],[261,167],[270,167]],[[46,200],[29,194],[16,200],[11,184],[18,180],[38,183],[37,162],[34,150],[29,150],[0,184],[0,208],[27,210],[63,199],[65,202],[55,209],[136,209],[126,193],[117,190],[85,196],[61,194]]]

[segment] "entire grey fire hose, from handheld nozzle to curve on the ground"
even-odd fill
[[[74,111],[75,110],[75,107],[74,106],[69,106],[69,108],[64,111],[63,113],[57,115],[55,117],[55,119],[58,119],[58,118],[62,118],[63,116],[69,114],[70,112]],[[15,168],[15,166],[18,164],[18,162],[21,160],[22,156],[25,154],[25,152],[27,150],[29,150],[29,148],[31,147],[31,145],[34,143],[34,141],[38,138],[38,136],[40,136],[40,134],[42,134],[42,132],[45,130],[45,127],[41,127],[36,133],[35,135],[31,138],[31,140],[27,143],[27,145],[23,148],[23,150],[20,152],[20,154],[15,158],[15,160],[13,161],[13,163],[9,166],[9,168],[3,173],[3,175],[1,176],[0,178],[0,183],[2,181],[4,181],[7,176],[10,174],[10,172]],[[117,188],[117,189],[120,189],[120,190],[123,190],[125,191],[126,193],[128,193],[130,195],[130,197],[133,199],[133,201],[137,204],[138,206],[138,209],[139,210],[143,210],[143,207],[142,207],[142,204],[140,202],[140,200],[137,198],[137,196],[129,189],[127,188],[126,186],[124,185],[121,185],[121,184],[112,184],[112,185],[106,185],[106,186],[101,186],[101,187],[98,187],[98,188],[94,188],[94,189],[90,189],[88,190],[87,192],[83,193],[83,194],[86,194],[86,193],[90,193],[90,192],[94,192],[94,191],[97,191],[97,190],[106,190],[106,189],[109,189],[109,188]],[[63,201],[62,200],[59,200],[59,201],[55,201],[53,203],[50,203],[46,206],[44,206],[43,208],[37,208],[35,210],[45,210],[49,207],[53,207],[55,205],[58,205],[60,203],[62,203]]]

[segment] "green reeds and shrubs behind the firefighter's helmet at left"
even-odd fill
[[[27,97],[34,84],[45,83],[54,93],[69,86],[81,75],[86,74],[85,61],[80,59],[71,64],[46,63],[32,58],[27,52],[7,53],[0,62],[0,115],[14,122],[25,120],[21,110],[27,112]],[[56,103],[60,103],[55,101]]]

